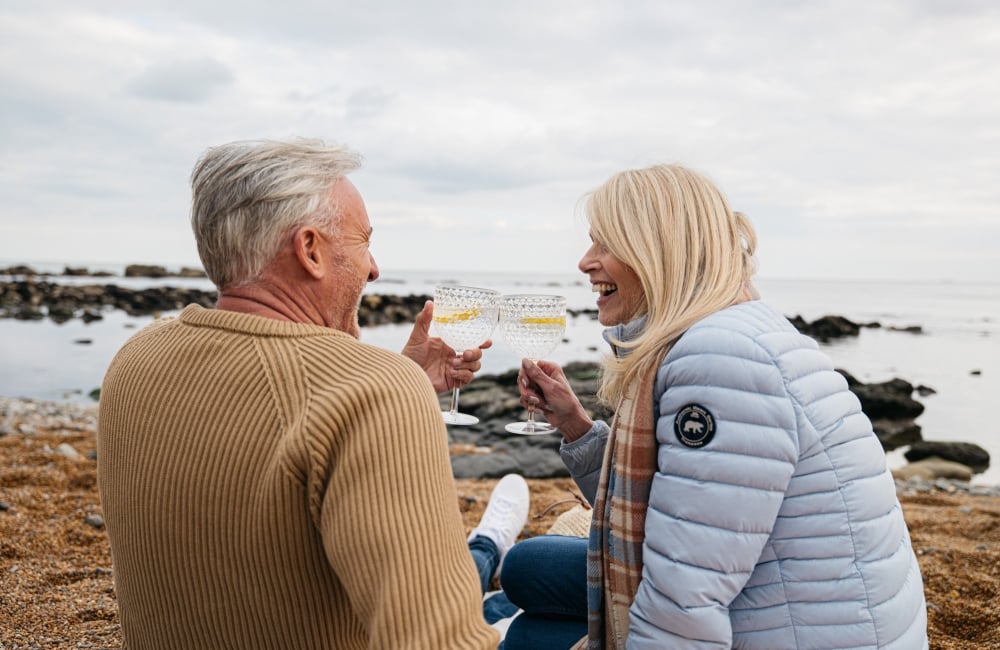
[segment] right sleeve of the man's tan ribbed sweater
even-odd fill
[[[370,647],[495,648],[433,389],[408,361],[365,384],[339,400],[319,534]]]

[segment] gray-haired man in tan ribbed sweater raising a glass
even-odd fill
[[[470,381],[482,352],[456,359],[429,337],[430,304],[405,356],[358,340],[378,277],[346,178],[358,164],[322,142],[259,141],[194,169],[216,308],[132,337],[101,395],[98,485],[130,648],[497,645],[469,550],[493,544],[488,577],[527,488],[508,481],[466,544],[434,390]]]

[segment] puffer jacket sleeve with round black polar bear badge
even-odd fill
[[[796,406],[756,340],[689,330],[657,373],[658,470],[628,648],[730,648],[729,604],[775,525],[798,458]],[[710,436],[685,430],[701,413]]]

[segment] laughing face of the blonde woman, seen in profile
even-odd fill
[[[594,239],[579,268],[590,278],[590,286],[597,298],[597,320],[605,327],[627,323],[641,313],[645,305],[645,294],[639,276],[624,262],[608,251],[607,247]]]

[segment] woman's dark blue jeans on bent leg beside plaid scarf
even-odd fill
[[[503,650],[563,650],[587,635],[587,540],[539,535],[514,544],[500,573],[524,610],[507,628]]]

